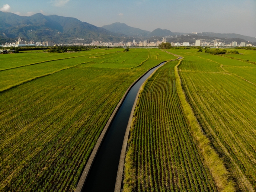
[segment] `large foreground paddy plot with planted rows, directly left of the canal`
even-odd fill
[[[1,189],[75,188],[134,76],[129,71],[71,68],[2,93]]]

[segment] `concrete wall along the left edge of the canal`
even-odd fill
[[[162,63],[162,62],[161,62],[161,63]],[[158,65],[160,65],[161,63],[159,63]],[[158,66],[158,65],[156,65],[156,66]],[[155,68],[156,66],[150,68],[149,70]],[[93,163],[93,161],[94,161],[94,158],[95,158],[95,156],[97,155],[97,151],[98,151],[98,149],[100,148],[100,145],[101,145],[101,143],[102,143],[102,140],[104,139],[105,134],[106,134],[108,128],[110,127],[110,124],[111,124],[113,118],[115,117],[115,115],[116,115],[116,113],[117,113],[119,107],[121,107],[121,105],[122,105],[122,103],[123,103],[123,100],[124,100],[125,97],[127,96],[128,92],[130,91],[130,89],[132,88],[132,86],[133,86],[134,84],[136,84],[136,82],[138,82],[146,73],[148,73],[149,70],[147,70],[142,76],[140,76],[137,80],[135,80],[132,85],[130,85],[130,86],[128,87],[128,89],[127,89],[126,92],[124,93],[123,97],[122,97],[121,100],[119,101],[118,105],[117,105],[116,108],[114,109],[113,113],[111,114],[110,118],[108,119],[107,124],[105,125],[104,129],[102,130],[102,133],[101,133],[100,137],[99,137],[98,140],[97,140],[97,143],[96,143],[96,145],[95,145],[95,147],[94,147],[94,149],[93,149],[93,151],[92,151],[92,153],[91,153],[91,155],[90,155],[90,158],[89,158],[88,161],[86,162],[86,166],[85,166],[84,171],[82,172],[82,175],[81,175],[81,177],[80,177],[80,179],[79,179],[79,182],[78,182],[78,185],[77,185],[77,187],[76,187],[75,192],[81,192],[81,191],[82,191],[82,187],[84,186],[84,183],[85,183],[85,181],[86,181],[86,177],[87,177],[87,175],[88,175],[88,173],[89,173],[89,171],[90,171],[90,168],[91,168],[91,165],[92,165],[92,163]],[[122,152],[121,152],[121,153],[122,153]],[[119,170],[119,167],[118,167],[118,170]],[[121,178],[121,181],[122,181],[122,178]],[[121,187],[121,186],[120,186],[120,187]]]

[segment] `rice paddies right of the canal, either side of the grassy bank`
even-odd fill
[[[145,83],[130,132],[125,192],[256,191],[256,65],[236,59],[253,62],[256,51],[210,55],[197,50],[166,50],[184,58],[179,65],[165,64]],[[207,163],[199,136],[194,137],[177,90],[179,77],[198,127],[227,171],[225,185],[231,187],[219,187],[218,166]]]

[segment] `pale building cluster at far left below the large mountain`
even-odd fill
[[[24,38],[19,37],[18,41],[13,43],[5,43],[2,47],[22,47],[22,46],[54,46],[53,41],[46,42],[34,42],[34,41],[25,41]]]

